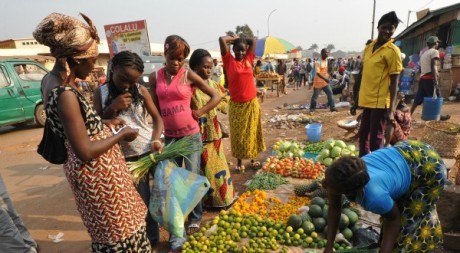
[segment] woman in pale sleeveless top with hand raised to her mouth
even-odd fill
[[[144,72],[144,63],[136,53],[122,51],[112,59],[108,82],[94,92],[94,108],[103,119],[122,119],[126,125],[139,129],[139,136],[132,142],[121,142],[125,160],[134,162],[162,148],[160,135],[163,120],[149,92],[139,85],[139,77]],[[153,119],[153,130],[147,116]],[[153,174],[153,169],[151,170]],[[136,187],[145,205],[149,206],[149,175],[141,179]],[[158,223],[147,213],[147,237],[151,245],[159,240]]]

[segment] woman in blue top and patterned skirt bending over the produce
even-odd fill
[[[362,158],[345,156],[326,169],[328,234],[324,252],[333,252],[341,195],[383,218],[380,252],[431,252],[442,244],[436,202],[446,167],[433,147],[402,141]]]

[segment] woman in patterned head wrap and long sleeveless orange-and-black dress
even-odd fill
[[[65,144],[64,172],[77,209],[92,240],[93,252],[151,252],[145,232],[147,208],[134,188],[118,142],[133,140],[125,127],[113,134],[78,91],[98,56],[99,37],[91,20],[53,13],[34,31],[38,42],[65,59],[69,74],[47,97],[47,123]],[[112,122],[114,123],[114,122]],[[120,123],[120,122],[117,122]]]

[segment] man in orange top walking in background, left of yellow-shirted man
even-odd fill
[[[329,73],[328,73],[328,62],[327,57],[329,52],[326,48],[321,49],[321,59],[315,63],[316,76],[313,79],[313,95],[310,101],[310,112],[316,110],[316,99],[318,99],[319,93],[324,91],[327,96],[327,103],[331,112],[336,112],[334,96],[332,95],[331,86],[329,86]]]

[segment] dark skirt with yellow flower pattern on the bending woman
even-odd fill
[[[412,178],[408,192],[396,201],[401,232],[395,252],[432,252],[443,241],[436,202],[447,180],[446,167],[428,144],[408,140],[394,147],[409,164]]]

